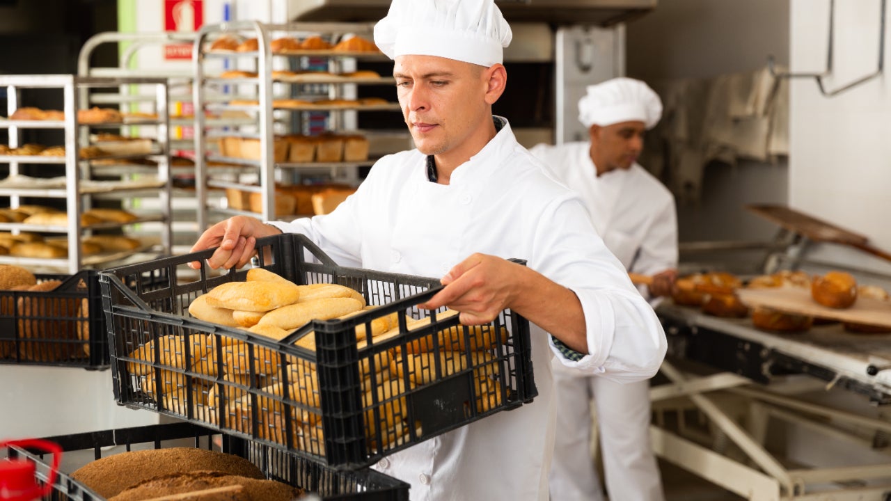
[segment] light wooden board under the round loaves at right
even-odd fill
[[[891,302],[888,301],[857,298],[851,308],[836,309],[818,304],[811,297],[810,289],[799,287],[738,289],[736,293],[749,308],[773,308],[797,315],[891,327]]]

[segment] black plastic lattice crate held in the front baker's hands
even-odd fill
[[[247,274],[213,275],[203,265],[198,279],[185,278],[195,275],[186,264],[203,264],[213,250],[102,272],[119,403],[356,469],[537,395],[528,322],[510,310],[469,328],[442,309],[416,308],[440,287],[437,279],[338,267],[299,234],[260,239],[257,248],[257,262],[294,283],[347,285],[379,308],[273,341],[189,316],[197,296]],[[393,313],[405,314],[398,335],[357,345],[357,326],[371,332],[373,320]],[[409,330],[410,320],[427,315],[428,324]],[[496,342],[454,349],[479,336]],[[303,346],[312,340],[315,350]],[[421,344],[427,354],[411,353]]]

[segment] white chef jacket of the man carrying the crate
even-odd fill
[[[421,152],[400,152],[376,162],[331,214],[274,223],[307,234],[341,265],[393,273],[442,276],[474,252],[527,259],[528,267],[581,301],[590,352],[576,362],[530,325],[539,391],[534,402],[380,461],[380,471],[411,484],[413,501],[546,500],[552,354],[621,382],[649,378],[666,352],[656,314],[597,236],[584,203],[503,123],[486,147],[454,170],[449,185],[429,181]]]

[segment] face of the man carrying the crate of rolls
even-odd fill
[[[487,103],[489,69],[430,55],[396,57],[393,76],[403,118],[425,155],[460,149],[492,123]]]

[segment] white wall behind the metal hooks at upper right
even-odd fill
[[[792,70],[824,69],[828,16],[828,0],[791,0]],[[830,90],[876,69],[879,0],[836,2],[835,27]],[[813,79],[796,79],[790,114],[789,204],[891,249],[891,78],[834,97],[823,96]]]

